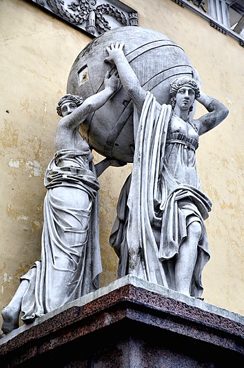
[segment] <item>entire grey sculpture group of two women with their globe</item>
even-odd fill
[[[194,119],[197,102],[207,113]],[[18,327],[20,311],[32,322],[99,287],[97,176],[126,162],[133,162],[132,175],[110,236],[119,278],[135,275],[201,298],[210,258],[204,221],[212,203],[201,191],[195,153],[199,135],[228,110],[203,93],[182,48],[145,28],[105,32],[74,61],[57,112],[41,262],[3,309],[3,332]],[[106,157],[96,168],[91,148]]]

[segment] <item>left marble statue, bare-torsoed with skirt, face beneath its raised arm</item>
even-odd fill
[[[80,298],[99,288],[99,182],[108,166],[121,166],[105,158],[94,166],[90,147],[79,135],[86,117],[105,104],[121,86],[116,72],[106,73],[105,88],[85,101],[65,95],[57,113],[62,117],[55,133],[55,155],[44,184],[48,189],[43,208],[41,261],[21,277],[10,304],[2,311],[3,333],[23,322]]]

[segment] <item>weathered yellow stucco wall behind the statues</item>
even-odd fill
[[[206,302],[243,314],[243,48],[171,0],[126,0],[139,25],[178,43],[199,71],[205,93],[229,109],[225,121],[201,137],[197,163],[202,188],[214,206],[207,220],[212,258],[203,271]],[[0,1],[1,244],[0,309],[19,276],[39,260],[43,174],[54,153],[55,112],[70,68],[91,40],[26,1]],[[7,112],[8,111],[8,112]],[[204,113],[199,108],[197,115]],[[95,159],[101,159],[95,155]],[[103,274],[116,279],[108,238],[116,200],[131,166],[108,168],[99,178]],[[1,321],[0,321],[1,323]]]

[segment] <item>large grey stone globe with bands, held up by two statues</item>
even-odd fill
[[[122,27],[105,32],[86,46],[74,61],[68,77],[67,93],[84,99],[103,89],[107,70],[105,47],[125,43],[124,52],[145,90],[150,90],[160,104],[169,104],[170,84],[176,77],[196,72],[184,50],[167,36],[141,27]],[[81,125],[80,133],[91,148],[106,157],[133,162],[132,101],[123,87]]]

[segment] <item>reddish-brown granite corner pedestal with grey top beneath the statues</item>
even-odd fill
[[[243,351],[242,316],[126,276],[9,333],[0,366],[236,368]]]

